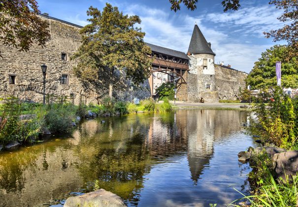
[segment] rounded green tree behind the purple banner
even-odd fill
[[[275,63],[281,61],[281,85],[298,88],[297,58],[288,59],[289,48],[284,45],[274,45],[262,53],[259,61],[246,78],[246,84],[251,89],[269,88],[276,85]]]

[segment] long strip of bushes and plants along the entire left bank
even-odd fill
[[[100,104],[70,104],[65,97],[55,103],[22,103],[15,97],[1,100],[0,104],[0,151],[17,148],[26,142],[35,142],[42,135],[70,133],[81,118],[124,115],[136,112],[166,112],[172,109],[168,100],[156,104],[152,99],[140,104],[116,101],[109,97]]]

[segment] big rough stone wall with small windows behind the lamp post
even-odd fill
[[[40,16],[49,22],[51,40],[42,48],[33,45],[29,52],[0,44],[3,58],[0,61],[0,97],[14,95],[22,100],[42,102],[43,100],[43,75],[41,65],[47,65],[46,95],[72,96],[75,104],[80,97],[86,104],[99,103],[100,99],[108,94],[108,81],[98,83],[82,82],[73,73],[75,61],[70,61],[71,55],[80,45],[79,26]],[[66,60],[62,60],[62,53]],[[61,84],[62,75],[67,75],[68,83]],[[15,75],[15,84],[9,84],[9,75]],[[132,85],[125,75],[115,75],[115,96],[120,100],[130,100],[129,88]],[[104,80],[104,77],[101,75]],[[150,97],[150,90],[145,82],[140,88],[135,87],[134,96],[138,98]]]

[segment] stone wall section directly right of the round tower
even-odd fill
[[[219,100],[236,100],[239,96],[239,87],[246,88],[247,73],[215,65],[215,84]]]

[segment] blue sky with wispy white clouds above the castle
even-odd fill
[[[168,0],[37,1],[41,13],[81,26],[88,24],[89,6],[102,10],[105,2],[109,2],[125,14],[140,16],[146,42],[185,53],[197,22],[216,53],[215,63],[224,62],[245,72],[251,71],[261,53],[275,44],[263,32],[283,26],[276,19],[282,11],[269,5],[269,0],[240,0],[238,11],[226,13],[220,4],[222,0],[199,0],[195,11],[182,7],[177,13],[170,10]]]

